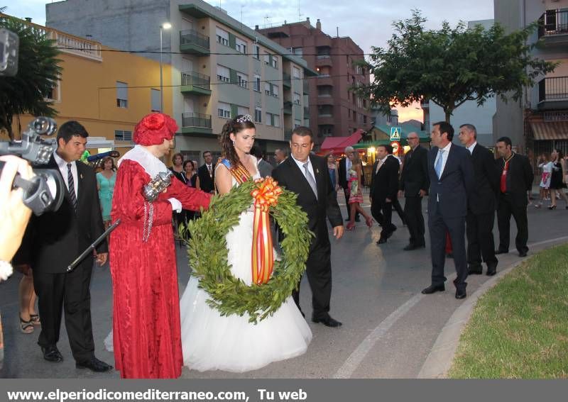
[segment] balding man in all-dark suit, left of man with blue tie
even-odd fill
[[[420,146],[417,133],[409,133],[406,139],[410,150],[404,157],[398,196],[404,195],[405,197],[404,214],[410,241],[404,250],[410,251],[426,247],[422,199],[428,192],[430,180],[428,179],[428,151]]]

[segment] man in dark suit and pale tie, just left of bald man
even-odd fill
[[[379,145],[377,147],[377,160],[373,164],[371,171],[371,215],[383,227],[381,238],[377,241],[378,245],[386,243],[396,226],[392,223],[393,218],[393,199],[396,198],[398,191],[398,160],[390,157],[393,152],[391,145]]]

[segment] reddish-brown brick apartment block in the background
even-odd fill
[[[357,64],[364,60],[364,52],[351,38],[327,35],[320,20],[313,27],[310,18],[271,28],[257,26],[256,30],[302,56],[307,66],[319,73],[308,80],[312,96],[307,110],[317,143],[328,136],[343,137],[371,128],[368,99],[350,91],[354,86],[369,84],[368,71]]]

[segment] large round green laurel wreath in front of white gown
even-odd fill
[[[283,189],[278,203],[269,209],[285,234],[280,243],[283,254],[274,262],[271,279],[266,284],[246,285],[234,277],[227,262],[225,235],[239,224],[239,216],[253,202],[251,192],[260,185],[249,180],[233,187],[228,194],[213,196],[209,210],[204,211],[200,219],[190,220],[187,226],[180,225],[191,274],[199,280],[199,287],[209,294],[209,306],[217,308],[222,316],[249,313],[251,323],[271,316],[292,294],[305,271],[313,236],[307,229],[307,214],[297,206],[297,195]],[[250,253],[251,250],[242,252]]]

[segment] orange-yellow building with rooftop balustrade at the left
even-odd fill
[[[160,111],[159,62],[116,52],[97,41],[30,21],[21,22],[55,40],[60,50],[60,80],[45,94],[46,99],[53,101],[58,125],[69,120],[82,123],[89,132],[87,148],[92,154],[111,149],[124,153],[131,149],[136,123],[147,113]],[[171,113],[170,67],[164,66],[163,71],[164,110]],[[21,129],[33,118],[21,115]],[[13,131],[19,131],[16,118]]]

